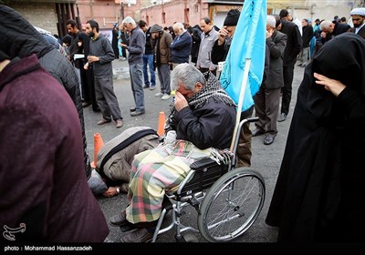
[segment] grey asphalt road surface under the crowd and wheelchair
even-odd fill
[[[145,108],[146,114],[140,117],[130,117],[130,107],[134,107],[133,97],[130,89],[129,69],[126,61],[115,60],[113,62],[114,70],[114,90],[120,103],[121,115],[123,117],[124,126],[122,128],[116,128],[115,123],[111,122],[102,126],[98,126],[97,122],[101,118],[100,113],[92,111],[91,107],[84,108],[85,125],[87,131],[88,148],[90,159],[93,159],[93,144],[95,133],[100,133],[104,143],[108,142],[111,138],[115,138],[125,130],[126,128],[135,126],[148,126],[155,128],[158,127],[159,113],[163,111],[166,115],[169,114],[169,105],[171,100],[163,101],[160,97],[154,97],[155,93],[159,91],[159,84],[153,91],[144,89],[145,92]],[[287,131],[290,125],[293,109],[297,99],[297,87],[299,86],[303,77],[304,68],[295,66],[295,75],[293,81],[293,96],[291,101],[291,109],[288,114],[287,120],[279,122],[277,124],[278,134],[275,142],[272,145],[266,146],[263,144],[264,136],[253,138],[252,150],[252,168],[259,171],[266,182],[266,200],[264,208],[262,209],[260,216],[256,219],[253,226],[245,232],[244,235],[239,237],[235,242],[245,243],[273,243],[276,241],[277,230],[267,226],[265,223],[266,212],[272,197],[273,190],[276,184],[277,174],[280,168],[281,159],[283,157],[284,148],[287,141]],[[251,124],[251,128],[254,125]],[[99,205],[104,212],[105,218],[108,220],[111,216],[120,212],[127,206],[127,198],[125,194],[120,194],[113,198],[104,198],[102,196],[97,197]],[[195,211],[188,210],[184,215],[184,220],[196,226],[196,213]],[[174,229],[163,233],[157,242],[174,242]],[[121,236],[124,235],[119,228],[110,226],[110,235],[107,238],[107,242],[120,242]],[[206,242],[202,237],[197,235],[201,242]]]

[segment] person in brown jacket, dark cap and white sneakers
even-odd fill
[[[170,45],[172,44],[172,35],[169,32],[163,31],[162,26],[157,24],[151,26],[151,39],[154,40],[153,49],[153,65],[157,67],[159,75],[161,92],[157,93],[156,97],[170,97]]]

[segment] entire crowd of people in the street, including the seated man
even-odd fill
[[[128,163],[119,167],[127,184],[100,193],[127,193],[127,207],[109,219],[111,226],[135,226],[122,242],[151,241],[165,191],[179,186],[190,164],[229,148],[233,138],[236,104],[221,87],[218,64],[227,56],[240,15],[230,10],[220,28],[209,17],[197,26],[175,22],[162,28],[126,16],[113,26],[114,44],[96,20],[88,20],[83,32],[71,19],[62,40],[68,47],[65,57],[22,15],[0,5],[0,134],[6,141],[0,144],[5,162],[0,224],[26,226],[24,240],[106,239],[108,220],[88,185],[82,108],[101,113],[97,125],[113,120],[116,128],[123,127],[112,61],[126,58],[135,103],[130,116],[146,113],[144,89],[160,87],[155,97],[162,100],[173,91],[166,125],[176,137],[159,141],[150,130],[136,138],[143,148],[129,149],[128,159],[127,150],[120,156]],[[255,115],[259,120],[253,130],[248,123],[239,130],[236,156],[237,167],[250,167],[252,137],[265,135],[267,146],[274,142],[276,122],[288,118],[294,68],[304,67],[266,215],[266,223],[278,228],[277,241],[363,241],[364,210],[357,201],[365,178],[359,168],[365,155],[365,8],[349,15],[353,27],[338,17],[317,19],[312,26],[310,19],[300,22],[287,9],[266,17],[262,84],[255,103],[239,113],[241,119]],[[130,136],[125,133],[122,140]],[[99,174],[108,176],[100,163]],[[23,189],[12,189],[15,183]]]

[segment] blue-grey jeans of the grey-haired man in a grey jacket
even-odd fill
[[[130,64],[130,86],[133,93],[136,110],[144,109],[144,92],[142,87],[142,65]]]

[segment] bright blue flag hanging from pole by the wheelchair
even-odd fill
[[[263,79],[266,15],[266,0],[245,0],[220,77],[222,87],[239,107],[242,106],[241,111],[254,105],[253,97]],[[247,66],[248,76],[244,79]],[[242,88],[245,89],[243,102],[239,102]]]

